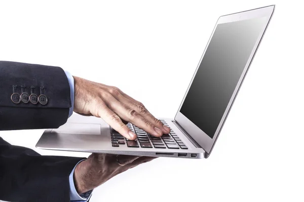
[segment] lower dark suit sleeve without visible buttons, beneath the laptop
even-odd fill
[[[69,174],[82,159],[41,156],[0,137],[0,199],[69,202]]]

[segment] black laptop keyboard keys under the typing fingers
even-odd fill
[[[169,127],[165,120],[160,121]],[[110,128],[112,146],[119,147],[120,145],[127,144],[128,147],[188,149],[172,129],[169,134],[164,134],[162,137],[155,137],[131,123],[128,123],[127,126],[132,132],[136,133],[137,139],[129,140],[113,128]]]

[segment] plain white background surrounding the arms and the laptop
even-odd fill
[[[303,201],[300,3],[2,1],[0,60],[60,66],[120,87],[157,117],[174,117],[218,17],[276,4],[210,158],[159,158],[96,188],[91,201]],[[35,149],[42,132],[0,135]]]

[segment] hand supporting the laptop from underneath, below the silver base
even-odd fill
[[[92,154],[77,165],[74,172],[75,188],[79,194],[92,190],[110,178],[156,157]]]

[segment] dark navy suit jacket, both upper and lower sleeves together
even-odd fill
[[[18,96],[11,95],[20,95],[21,86],[28,95],[30,88],[37,96],[46,95],[47,104],[42,105],[45,99],[35,104],[34,98],[26,103],[26,96],[15,104]],[[58,128],[70,107],[69,83],[61,68],[0,61],[0,130]],[[0,137],[0,199],[70,201],[68,177],[81,159],[41,156]]]

